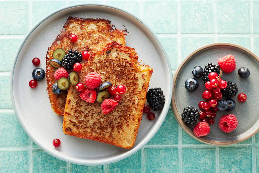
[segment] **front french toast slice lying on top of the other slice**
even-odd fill
[[[117,42],[108,43],[91,55],[79,72],[80,81],[90,72],[101,76],[101,82],[109,81],[113,86],[123,84],[119,105],[110,113],[103,114],[101,104],[83,101],[75,86],[68,89],[63,119],[63,132],[79,138],[91,139],[122,148],[132,148],[143,113],[146,92],[153,69],[139,65],[134,48]],[[110,95],[110,99],[113,96]]]

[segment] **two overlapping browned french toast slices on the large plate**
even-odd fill
[[[76,42],[69,40],[72,34],[77,35]],[[153,69],[139,64],[135,49],[125,47],[125,35],[125,30],[113,28],[106,19],[68,17],[64,29],[48,48],[47,91],[52,110],[64,116],[65,134],[127,149],[134,146]],[[126,91],[114,110],[104,114],[100,103],[83,100],[73,84],[59,95],[52,92],[52,86],[57,82],[54,78],[56,69],[49,65],[49,61],[57,48],[65,52],[71,49],[89,52],[88,61],[81,61],[82,69],[77,72],[80,83],[84,84],[85,76],[95,72],[100,74],[101,83],[125,86]],[[110,95],[109,99],[113,96]]]

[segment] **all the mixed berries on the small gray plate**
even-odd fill
[[[194,128],[195,136],[206,136],[210,133],[210,126],[214,124],[217,111],[232,111],[235,109],[236,103],[230,97],[234,97],[238,93],[237,84],[231,81],[222,80],[222,72],[231,73],[236,68],[236,61],[233,55],[229,54],[218,59],[218,65],[208,63],[203,69],[201,66],[195,66],[192,74],[195,78],[201,78],[205,84],[206,90],[202,93],[204,101],[200,101],[198,106],[201,111],[192,106],[185,107],[182,112],[182,120],[186,124],[194,124],[198,122]],[[249,69],[241,67],[238,74],[242,78],[250,75]],[[188,91],[195,91],[199,82],[195,78],[188,78],[185,81],[185,88]],[[222,99],[222,97],[225,99]],[[240,93],[237,97],[240,102],[244,102],[247,97],[244,93]],[[220,117],[218,122],[219,128],[229,133],[237,128],[237,118],[234,114],[226,114]]]

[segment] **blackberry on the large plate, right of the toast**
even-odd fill
[[[161,88],[151,88],[146,93],[146,99],[153,110],[160,110],[165,104],[165,95]]]

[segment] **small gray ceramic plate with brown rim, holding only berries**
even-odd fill
[[[210,125],[210,133],[207,136],[197,138],[192,131],[194,125],[186,125],[183,123],[181,113],[186,106],[193,106],[200,110],[198,104],[199,101],[203,100],[201,94],[206,88],[202,78],[197,79],[199,81],[199,87],[196,91],[186,90],[184,82],[187,78],[193,77],[191,72],[196,65],[200,65],[204,68],[209,62],[217,64],[218,59],[227,54],[234,55],[236,59],[236,69],[229,74],[222,73],[221,78],[235,82],[238,86],[238,94],[245,93],[247,100],[245,102],[239,102],[237,100],[238,94],[232,97],[236,102],[235,109],[231,112],[218,111],[215,117],[215,123]],[[240,67],[250,69],[251,74],[248,78],[241,78],[238,75],[237,71]],[[215,43],[203,46],[184,59],[176,70],[173,78],[172,110],[180,126],[191,137],[206,144],[229,145],[246,140],[259,130],[259,59],[251,51],[230,43]],[[235,114],[238,119],[238,126],[231,133],[224,133],[219,129],[218,121],[220,116],[228,113]]]

